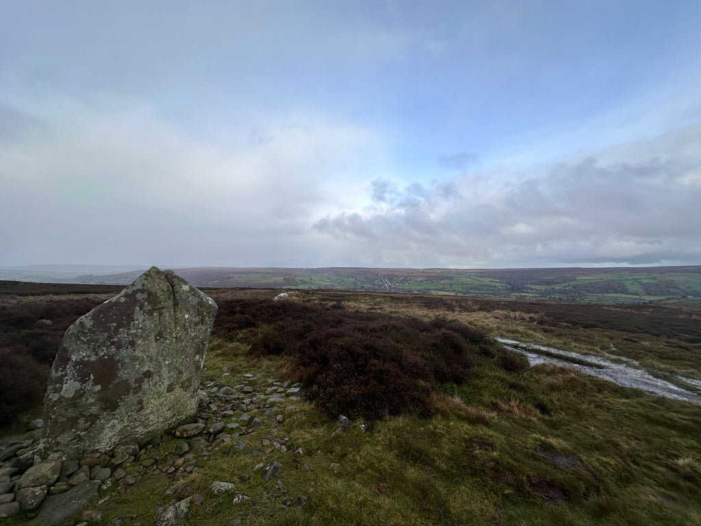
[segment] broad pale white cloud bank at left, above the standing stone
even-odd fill
[[[36,119],[42,133],[0,139],[4,264],[285,259],[278,248],[305,252],[314,236],[301,234],[337,210],[346,175],[381,142],[315,116],[279,119],[266,140],[226,147],[149,107],[64,100]]]

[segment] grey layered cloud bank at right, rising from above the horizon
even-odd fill
[[[606,161],[592,156],[402,191],[376,180],[374,207],[328,215],[314,227],[387,261],[697,263],[701,126],[619,150],[636,160],[606,151]]]

